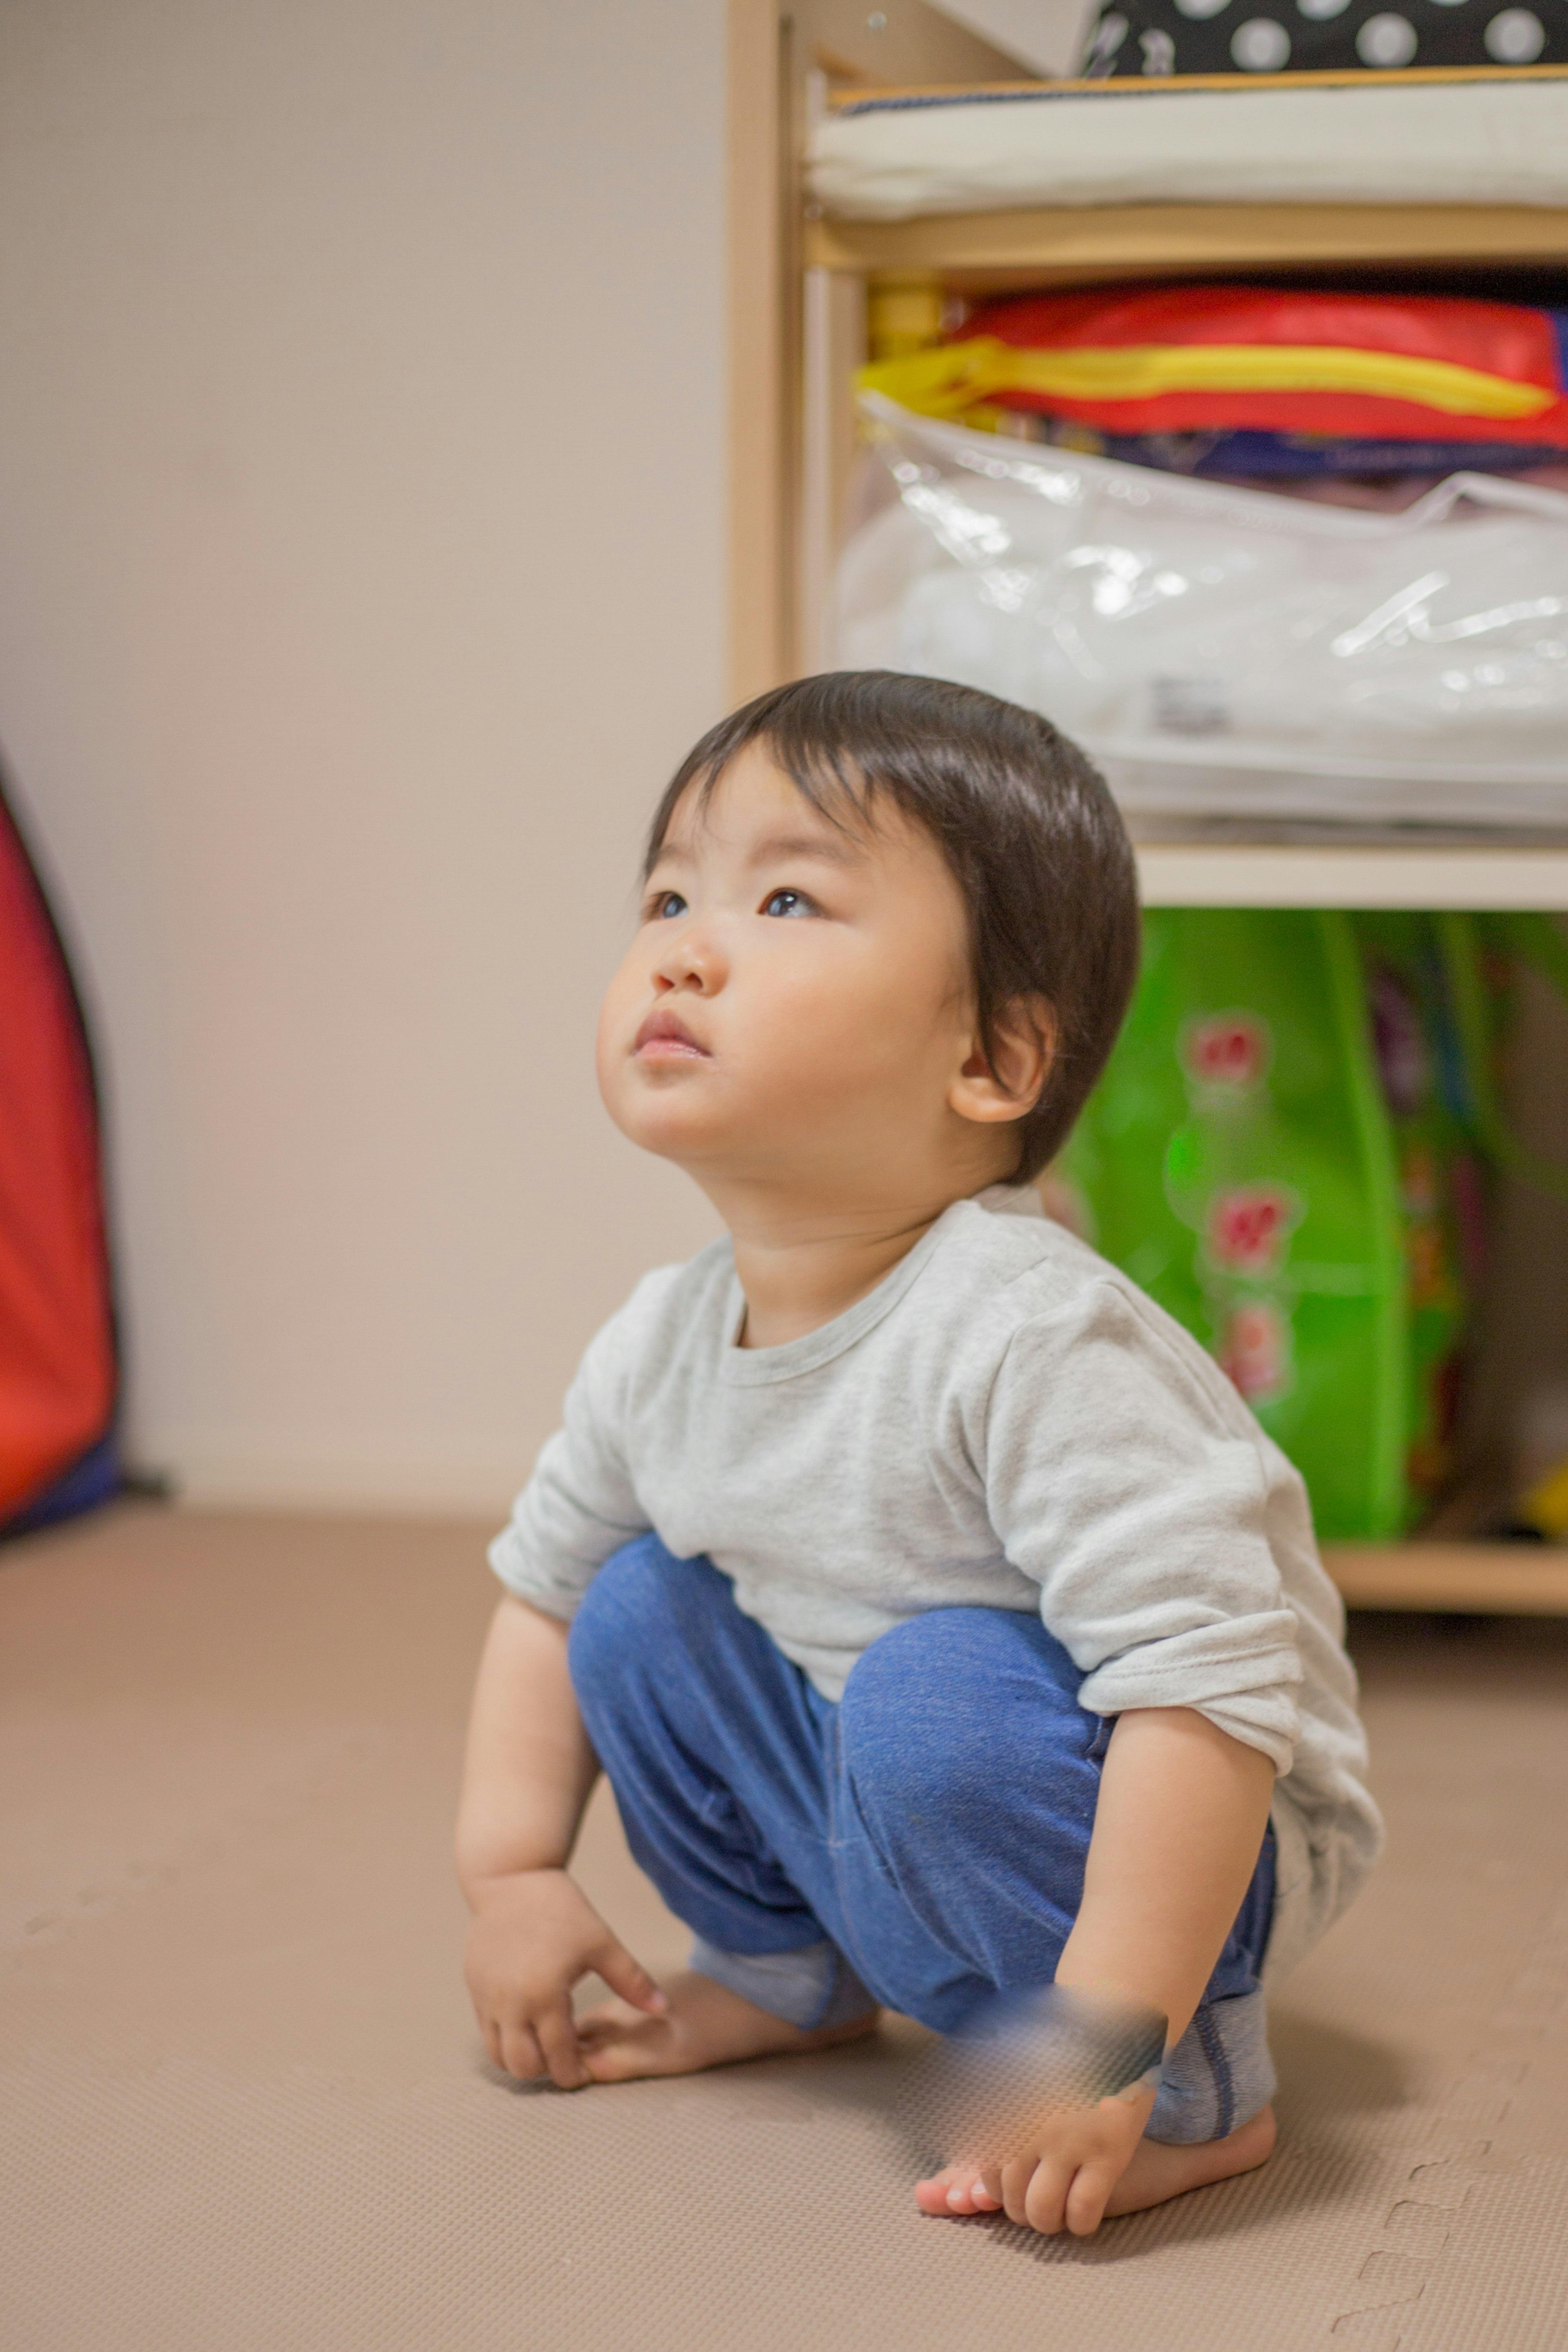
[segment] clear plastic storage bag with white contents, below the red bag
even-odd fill
[[[863,414],[839,666],[1044,710],[1143,816],[1568,828],[1568,496],[1368,515]]]

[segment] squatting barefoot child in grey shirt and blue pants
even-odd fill
[[[1265,1947],[1380,1830],[1300,1479],[1030,1183],[1135,957],[1110,793],[987,694],[806,677],[670,783],[599,1087],[729,1240],[599,1331],[491,1552],[458,1870],[512,2074],[1056,1985],[1091,2058],[1157,2013],[1164,2067],[952,2147],[924,2211],[1084,2234],[1269,2154]],[[696,1933],[663,1987],[567,1875],[599,1769]]]

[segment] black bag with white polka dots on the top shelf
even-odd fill
[[[1568,0],[1103,0],[1079,75],[1568,66]]]

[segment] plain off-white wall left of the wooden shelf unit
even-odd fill
[[[724,701],[722,0],[0,0],[0,741],[134,1456],[480,1505],[708,1211],[609,1129]]]

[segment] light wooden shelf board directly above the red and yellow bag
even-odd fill
[[[1568,263],[1568,209],[1528,205],[1084,205],[919,221],[809,219],[811,268],[931,270],[959,289],[1140,270]]]

